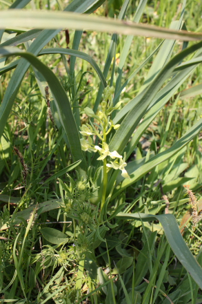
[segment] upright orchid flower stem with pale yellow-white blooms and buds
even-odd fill
[[[103,91],[103,101],[100,104],[100,109],[97,115],[91,108],[85,108],[85,114],[88,117],[94,118],[94,122],[90,121],[90,124],[83,124],[81,126],[81,149],[89,152],[99,152],[100,156],[97,160],[103,161],[103,191],[101,198],[101,210],[105,204],[105,196],[108,182],[108,172],[110,169],[121,170],[123,178],[130,178],[128,172],[125,170],[127,166],[124,156],[120,155],[117,151],[110,151],[107,144],[107,136],[114,129],[119,129],[120,124],[114,124],[111,119],[111,114],[114,110],[117,110],[121,106],[121,102],[118,102],[116,106],[113,106],[113,93],[114,88],[107,86]],[[92,138],[92,137],[93,138]],[[94,138],[95,137],[95,138]],[[97,137],[97,138],[96,138]],[[94,139],[94,140],[93,140]],[[94,144],[94,142],[100,141],[100,146]],[[109,158],[112,160],[109,161]]]

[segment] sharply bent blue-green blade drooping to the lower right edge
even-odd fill
[[[143,220],[148,222],[150,220],[159,220],[163,226],[165,236],[172,248],[172,251],[179,259],[183,267],[189,272],[194,281],[202,288],[202,268],[192,255],[190,249],[185,244],[179,226],[177,225],[176,219],[172,214],[161,214],[160,216],[153,216],[145,213],[123,213],[117,214],[117,218],[123,220]]]

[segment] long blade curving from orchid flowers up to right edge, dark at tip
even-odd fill
[[[125,149],[126,144],[130,140],[130,136],[132,135],[134,129],[137,127],[140,120],[145,115],[148,106],[152,102],[152,99],[159,91],[159,88],[161,88],[165,80],[170,77],[170,74],[174,68],[183,58],[192,54],[194,51],[198,50],[201,47],[202,42],[199,42],[199,44],[195,44],[194,46],[190,46],[190,48],[183,50],[181,53],[173,57],[168,64],[166,64],[166,66],[161,70],[159,75],[156,76],[150,86],[146,88],[143,97],[125,116],[123,122],[121,122],[121,126],[119,126],[119,129],[114,134],[114,137],[112,137],[112,140],[109,144],[110,151],[115,150],[118,153],[122,153],[123,149]]]

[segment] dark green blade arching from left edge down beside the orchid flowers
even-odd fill
[[[79,140],[79,132],[77,130],[77,125],[74,120],[74,115],[72,114],[72,109],[68,99],[68,95],[65,93],[63,86],[59,82],[59,79],[54,75],[52,70],[48,68],[45,64],[42,64],[37,57],[31,53],[23,52],[19,48],[1,48],[0,54],[2,56],[21,56],[26,58],[34,68],[37,68],[39,72],[48,82],[50,90],[54,95],[54,101],[57,106],[57,111],[63,129],[65,130],[66,135],[68,136],[68,141],[70,143],[70,149],[72,151],[72,158],[74,161],[82,160],[81,167],[85,169],[85,160],[83,159],[83,153],[81,151],[81,143]]]

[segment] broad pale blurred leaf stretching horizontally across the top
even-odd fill
[[[121,22],[117,19],[103,17],[89,17],[72,12],[59,11],[23,11],[3,10],[0,12],[1,28],[12,26],[28,28],[74,28],[75,30],[97,30],[101,32],[119,32],[123,35],[140,35],[165,39],[183,39],[194,41],[202,39],[201,33],[188,32],[185,30],[171,30],[148,24],[134,22]]]

